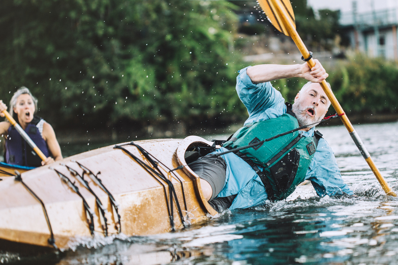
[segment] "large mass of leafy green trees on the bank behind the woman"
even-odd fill
[[[233,111],[234,8],[223,0],[4,0],[0,93],[7,100],[30,88],[39,114],[59,126]]]

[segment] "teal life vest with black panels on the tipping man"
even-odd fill
[[[223,147],[231,150],[255,144],[298,128],[294,113],[290,111],[288,113],[291,114],[285,113],[278,118],[240,128],[223,144]],[[320,138],[321,134],[318,133],[318,136]],[[237,151],[235,154],[256,171],[264,183],[270,200],[282,200],[292,194],[297,185],[304,180],[319,138],[305,137],[295,131],[259,146]],[[258,166],[263,168],[263,171]]]

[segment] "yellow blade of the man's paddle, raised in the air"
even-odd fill
[[[268,20],[281,31],[286,36],[290,36],[288,30],[286,29],[286,23],[289,21],[296,28],[295,13],[293,12],[292,4],[290,0],[258,0],[261,8],[268,17]],[[277,11],[277,6],[281,7],[286,11],[287,16],[282,16]]]

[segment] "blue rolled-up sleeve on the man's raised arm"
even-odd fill
[[[245,125],[282,116],[286,112],[282,94],[270,82],[253,84],[247,68],[240,70],[236,78],[236,91],[249,113]]]

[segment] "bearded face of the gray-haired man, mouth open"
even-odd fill
[[[312,83],[305,91],[299,92],[295,97],[292,111],[296,114],[298,123],[309,125],[320,122],[326,114],[329,99],[319,83]],[[316,124],[308,126],[314,127]]]

